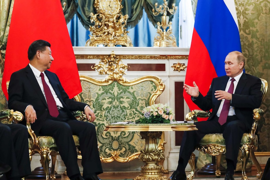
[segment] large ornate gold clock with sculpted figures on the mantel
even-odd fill
[[[95,0],[97,13],[90,13],[90,20],[94,26],[89,26],[90,39],[85,46],[133,46],[128,31],[125,28],[128,15],[122,15],[122,0]]]

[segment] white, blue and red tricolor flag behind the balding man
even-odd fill
[[[240,36],[234,0],[198,0],[185,84],[199,87],[206,95],[212,79],[226,75],[224,60],[240,51]],[[199,109],[185,91],[190,110]]]

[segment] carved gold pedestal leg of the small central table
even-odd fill
[[[134,180],[168,180],[169,178],[163,174],[163,166],[158,165],[158,162],[164,160],[163,152],[158,150],[157,138],[160,139],[161,131],[141,131],[142,139],[145,139],[144,150],[141,150],[139,160],[145,162],[141,167],[141,174]]]

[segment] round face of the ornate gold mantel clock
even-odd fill
[[[100,11],[104,14],[115,15],[120,10],[119,0],[100,0]]]

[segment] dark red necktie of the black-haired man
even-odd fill
[[[46,100],[47,100],[49,113],[50,113],[51,116],[57,117],[59,115],[59,112],[58,112],[58,109],[57,109],[57,106],[56,106],[56,103],[55,103],[54,96],[53,96],[49,86],[45,82],[44,74],[40,73],[40,77],[41,77],[41,80],[42,80],[42,84],[43,84],[43,88],[44,88],[44,92],[45,92],[45,96],[46,96]]]

